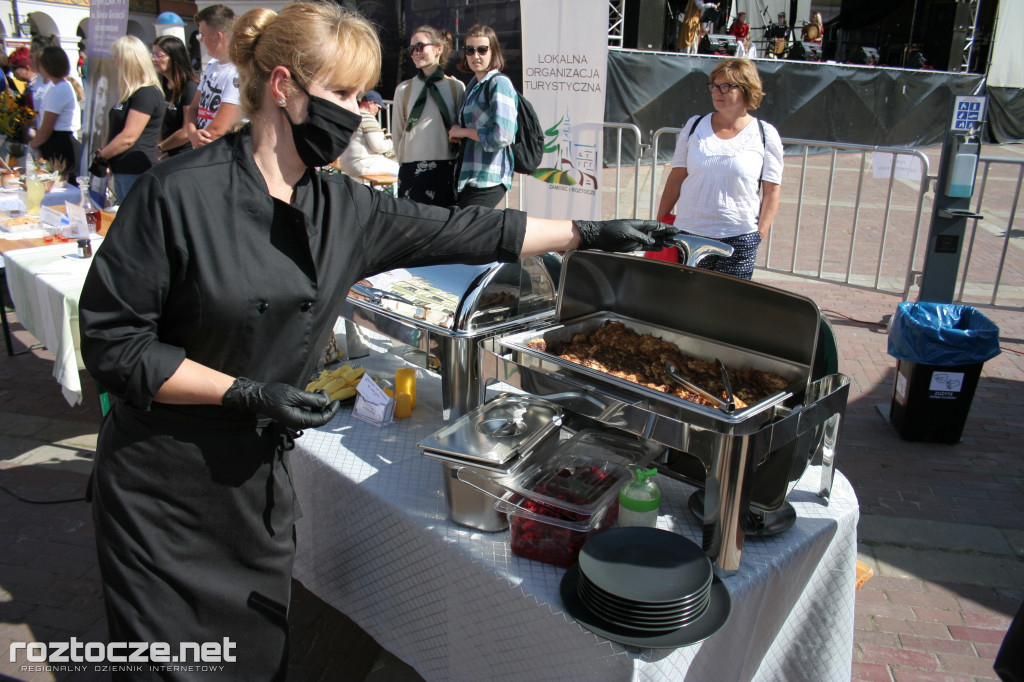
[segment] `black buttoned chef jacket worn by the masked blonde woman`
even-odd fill
[[[519,211],[425,206],[312,171],[287,205],[268,194],[243,130],[136,181],[86,278],[82,356],[142,410],[184,357],[302,385],[357,280],[514,261],[524,232]]]

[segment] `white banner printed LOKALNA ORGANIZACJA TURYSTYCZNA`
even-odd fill
[[[544,159],[522,176],[542,218],[600,218],[608,12],[594,0],[520,0],[522,94],[545,129]]]

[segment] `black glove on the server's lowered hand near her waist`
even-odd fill
[[[263,384],[239,377],[221,398],[225,408],[254,412],[293,429],[324,426],[338,414],[341,402],[327,391],[307,393],[288,384]]]

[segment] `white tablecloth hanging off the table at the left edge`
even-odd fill
[[[101,243],[93,240],[93,252]],[[70,404],[82,402],[78,299],[92,263],[91,259],[65,257],[77,251],[78,245],[70,242],[3,255],[18,322],[54,354],[53,377]]]

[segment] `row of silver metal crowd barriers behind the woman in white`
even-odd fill
[[[681,128],[653,131],[647,144],[633,124],[603,126],[601,216],[656,217],[668,166],[657,160],[667,143],[675,144]],[[779,212],[760,250],[758,269],[908,298],[923,266],[931,217],[935,178],[925,153],[796,138],[782,142],[786,166]],[[1024,246],[1014,225],[1024,160],[983,156],[980,162],[975,212],[986,219],[972,221],[957,301],[1019,307],[1024,300]],[[882,172],[887,165],[888,172]],[[1008,200],[1001,189],[986,194],[992,186],[1007,186],[1008,169],[1016,176],[1012,197]],[[502,208],[529,211],[522,184],[516,174]],[[642,196],[648,201],[642,202]]]

